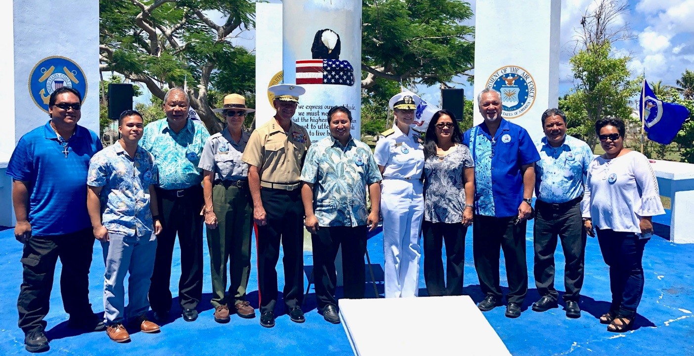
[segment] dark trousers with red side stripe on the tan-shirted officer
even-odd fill
[[[301,189],[262,188],[260,199],[267,224],[255,226],[258,264],[258,299],[260,312],[273,312],[277,304],[277,261],[280,240],[285,256],[285,288],[287,308],[301,307],[303,302],[303,203]]]

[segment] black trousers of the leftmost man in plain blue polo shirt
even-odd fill
[[[53,275],[60,258],[60,294],[65,312],[71,318],[92,318],[89,302],[89,269],[92,265],[92,228],[56,236],[33,235],[22,253],[22,286],[17,310],[19,328],[24,332],[45,330],[49,312]]]

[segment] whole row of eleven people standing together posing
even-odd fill
[[[593,159],[586,143],[566,135],[566,116],[559,109],[543,114],[545,137],[533,143],[526,130],[502,118],[498,91],[485,89],[477,97],[480,125],[462,133],[455,115],[441,110],[422,137],[410,127],[419,98],[400,93],[389,103],[395,123],[372,153],[350,134],[352,114],[346,107],[330,109],[330,134],[312,143],[291,119],[304,89],[278,84],[269,90],[276,115],[252,134],[243,123],[254,110],[243,96],[230,94],[214,110],[226,125],[210,136],[188,118],[187,93],[174,88],[164,97],[166,118],[144,127],[141,114],[124,112],[118,123],[121,139],[108,148],[77,125],[81,94],[70,87],[53,91],[50,120],[22,136],[6,171],[13,179],[15,238],[24,243],[17,308],[26,350],[49,349],[43,319],[58,258],[70,327],[105,330],[117,342],[130,339],[127,323],[158,332],[173,301],[169,283],[176,236],[178,302],[183,319],[195,321],[203,290],[203,229],[215,321],[226,323],[231,314],[255,317],[246,301],[253,229],[260,324],[275,325],[280,244],[285,308],[291,321],[305,321],[305,226],[312,236],[319,312],[339,323],[337,251],[341,247],[344,297],[363,298],[367,234],[381,218],[387,298],[418,295],[422,254],[428,294],[462,294],[465,235],[472,225],[475,269],[485,294],[478,308],[502,305],[502,249],[507,317],[520,316],[527,292],[527,220],[536,219],[534,276],[541,294],[532,309],[558,305],[553,256],[559,238],[566,256],[568,317],[580,317],[586,235],[593,236],[595,228],[612,291],[611,307],[600,322],[610,331],[632,328],[643,293],[641,258],[652,235],[650,218],[663,208],[648,160],[623,147],[623,121],[595,123],[606,153]],[[101,242],[105,264],[103,317],[94,314],[88,298],[94,238]]]

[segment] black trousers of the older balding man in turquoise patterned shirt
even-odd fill
[[[185,190],[183,197],[157,189],[162,233],[157,236],[149,303],[155,312],[171,310],[171,260],[178,234],[180,247],[180,279],[178,303],[181,308],[194,309],[203,297],[203,188]]]

